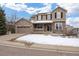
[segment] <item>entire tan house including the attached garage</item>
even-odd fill
[[[65,33],[66,13],[65,9],[57,7],[50,13],[33,15],[30,21],[21,19],[15,23],[16,33]]]

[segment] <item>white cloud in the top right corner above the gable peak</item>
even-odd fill
[[[68,10],[68,16],[79,15],[79,3],[58,3],[57,5]]]

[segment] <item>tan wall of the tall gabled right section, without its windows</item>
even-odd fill
[[[59,19],[55,18],[55,13],[57,14],[57,12],[60,12],[60,13],[62,12],[63,18],[59,18]],[[61,17],[61,15],[60,15],[60,17]],[[54,24],[53,24],[54,33],[65,33],[66,32],[66,11],[62,10],[61,8],[57,8],[56,10],[54,10],[52,12],[52,21],[54,22]],[[55,23],[62,23],[63,30],[61,30],[61,31],[55,30]]]

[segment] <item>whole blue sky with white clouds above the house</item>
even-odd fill
[[[67,24],[79,27],[79,3],[3,3],[0,5],[5,10],[9,21],[14,15],[17,16],[17,19],[30,19],[32,15],[51,12],[60,6],[67,10]]]

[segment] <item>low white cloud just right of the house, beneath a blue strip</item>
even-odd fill
[[[69,17],[67,19],[67,24],[79,28],[79,17]]]

